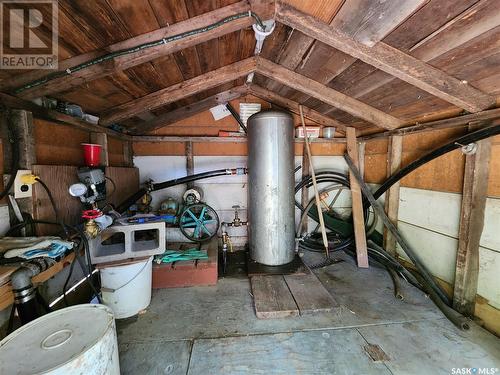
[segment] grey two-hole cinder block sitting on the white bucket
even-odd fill
[[[115,225],[90,240],[89,247],[93,264],[163,254],[165,223]]]

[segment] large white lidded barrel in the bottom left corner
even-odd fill
[[[0,342],[0,374],[120,374],[115,319],[104,305],[44,315]]]

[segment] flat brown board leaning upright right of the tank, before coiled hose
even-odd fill
[[[354,165],[359,168],[358,144],[356,140],[356,129],[346,128],[347,154],[351,157]],[[356,258],[358,267],[368,267],[368,250],[366,247],[365,219],[363,214],[363,200],[361,188],[356,178],[349,173],[349,182],[352,195],[352,217],[354,222],[354,239],[356,242]]]

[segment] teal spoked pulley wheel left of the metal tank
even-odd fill
[[[187,206],[179,219],[179,228],[186,238],[195,242],[205,242],[217,234],[219,216],[204,203]]]

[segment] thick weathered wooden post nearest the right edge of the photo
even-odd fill
[[[465,157],[453,307],[466,316],[474,315],[476,303],[490,153],[491,140],[488,138],[479,141],[476,152]]]

